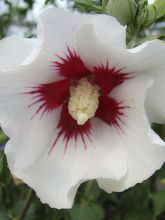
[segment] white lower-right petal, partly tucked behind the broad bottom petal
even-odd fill
[[[165,143],[151,130],[144,111],[144,97],[151,86],[145,77],[127,80],[114,96],[130,106],[125,112],[121,141],[127,151],[128,171],[119,181],[99,179],[107,192],[122,191],[150,177],[165,161]],[[125,97],[124,97],[125,96]]]

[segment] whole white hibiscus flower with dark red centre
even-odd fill
[[[126,49],[125,34],[111,16],[49,8],[37,39],[0,42],[9,168],[51,207],[70,208],[89,179],[123,191],[165,160],[150,127],[165,121],[165,45]]]

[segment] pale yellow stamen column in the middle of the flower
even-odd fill
[[[78,85],[71,86],[68,109],[78,125],[85,124],[95,115],[98,104],[98,86],[92,85],[86,78],[81,79]]]

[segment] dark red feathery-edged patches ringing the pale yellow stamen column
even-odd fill
[[[128,73],[123,72],[123,69],[109,68],[108,63],[106,66],[94,66],[91,71],[85,66],[78,54],[69,48],[67,48],[65,57],[58,56],[58,58],[60,60],[53,63],[55,72],[56,74],[58,72],[65,79],[38,85],[33,88],[28,92],[34,99],[34,102],[30,106],[39,103],[39,108],[35,112],[35,115],[41,114],[41,116],[54,111],[59,106],[62,107],[61,116],[56,128],[58,129],[58,135],[55,137],[52,149],[60,137],[63,137],[65,149],[67,149],[69,140],[74,139],[76,143],[78,136],[81,137],[84,148],[86,148],[85,138],[90,139],[92,129],[91,119],[83,125],[78,125],[77,121],[69,113],[68,102],[71,86],[75,85],[82,78],[88,79],[93,85],[98,85],[100,88],[99,104],[94,117],[101,119],[109,126],[120,128],[121,117],[124,115],[126,106],[112,98],[110,94],[115,87],[130,77]]]

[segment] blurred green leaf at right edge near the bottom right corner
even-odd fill
[[[165,189],[153,195],[153,212],[154,217],[165,212]]]

